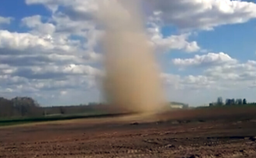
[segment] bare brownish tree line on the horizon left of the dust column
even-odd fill
[[[0,119],[16,117],[45,117],[58,114],[93,114],[100,112],[104,108],[105,106],[100,103],[40,107],[38,102],[31,97],[15,97],[13,99],[5,99],[0,97]]]

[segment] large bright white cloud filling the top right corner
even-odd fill
[[[256,18],[256,4],[240,0],[149,0],[165,25],[211,30]]]

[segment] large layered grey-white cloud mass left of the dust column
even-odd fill
[[[95,88],[102,72],[88,63],[102,58],[94,51],[100,31],[92,22],[73,21],[61,13],[52,16],[47,22],[40,15],[23,18],[22,25],[31,29],[27,33],[0,30],[0,92],[9,88],[12,95],[48,100],[60,92]]]

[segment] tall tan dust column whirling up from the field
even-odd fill
[[[156,112],[164,102],[160,73],[136,0],[101,0],[104,25],[104,95],[122,112]]]

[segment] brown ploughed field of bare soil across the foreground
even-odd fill
[[[0,158],[255,158],[255,136],[255,108],[182,110],[1,128]]]

